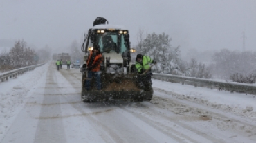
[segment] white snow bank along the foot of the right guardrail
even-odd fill
[[[256,120],[255,95],[231,93],[230,91],[181,85],[161,80],[153,80],[152,86],[164,90],[167,92],[166,94],[172,95],[174,98],[203,104],[207,107]]]

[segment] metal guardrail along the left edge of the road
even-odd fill
[[[23,67],[23,68],[20,68],[20,69],[14,69],[14,70],[11,70],[9,72],[3,72],[3,73],[0,73],[0,79],[1,81],[6,81],[8,80],[8,78],[15,78],[17,77],[19,74],[23,74],[24,72],[27,72],[31,69],[35,69],[35,67],[39,67],[41,65],[44,65],[44,63],[42,64],[37,64],[37,65],[30,65],[28,67]]]

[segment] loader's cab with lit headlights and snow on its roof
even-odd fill
[[[87,53],[84,61],[89,57],[89,51],[95,46],[100,47],[102,52],[102,69],[107,69],[109,65],[128,67],[125,68],[128,70],[131,68],[131,52],[135,50],[130,48],[129,32],[122,26],[102,24],[89,29],[82,45],[82,51]]]

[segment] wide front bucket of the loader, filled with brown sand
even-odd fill
[[[92,87],[87,91],[82,88],[81,100],[84,102],[91,102],[97,100],[151,100],[153,96],[153,89],[151,83],[146,88],[138,88],[134,78],[118,78],[116,81],[109,80],[109,75],[102,76],[102,83],[104,83],[101,90]],[[105,77],[105,78],[103,78]],[[92,85],[95,85],[95,80],[92,80]]]

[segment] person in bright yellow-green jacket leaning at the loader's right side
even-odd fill
[[[136,57],[135,67],[138,70],[137,82],[138,86],[148,88],[152,85],[151,80],[151,67],[149,64],[156,65],[156,61],[152,60],[149,56],[138,54]]]

